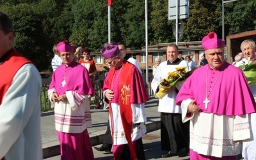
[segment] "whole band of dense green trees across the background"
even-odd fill
[[[190,0],[189,18],[179,42],[202,40],[209,31],[222,33],[222,0]],[[76,47],[99,52],[108,42],[107,0],[0,0],[0,9],[13,19],[14,47],[35,63],[38,70],[51,70],[52,45],[68,39]],[[256,1],[225,4],[225,35],[256,26]],[[149,45],[175,42],[168,20],[168,1],[148,1]],[[111,41],[124,42],[131,49],[145,45],[145,1],[113,1]]]

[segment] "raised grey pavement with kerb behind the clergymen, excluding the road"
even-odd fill
[[[147,115],[147,132],[160,129],[160,113],[157,112],[158,99],[150,99],[145,105]],[[88,128],[92,146],[102,143],[106,126],[108,122],[108,110],[92,109],[92,127]],[[42,145],[44,158],[58,156],[60,154],[60,145],[54,129],[54,113],[42,113]]]

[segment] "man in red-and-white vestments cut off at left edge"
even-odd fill
[[[12,20],[0,12],[0,159],[42,159],[42,79],[13,49]]]

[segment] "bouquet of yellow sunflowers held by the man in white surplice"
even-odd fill
[[[176,67],[174,72],[168,72],[168,77],[161,80],[161,83],[159,86],[161,86],[161,89],[159,92],[156,93],[156,97],[159,99],[162,99],[164,95],[166,95],[168,92],[166,92],[166,88],[171,88],[177,83],[181,83],[186,78],[188,78],[191,75],[191,71],[189,72],[186,70],[186,66],[184,67]]]

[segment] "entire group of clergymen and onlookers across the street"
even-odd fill
[[[42,159],[40,92],[42,80],[31,61],[13,49],[12,20],[0,12],[0,159]],[[224,59],[225,41],[210,32],[202,38],[204,54],[196,66],[188,55],[179,58],[176,44],[166,47],[166,61],[155,59],[152,90],[159,99],[161,120],[159,157],[186,150],[190,159],[256,159],[256,84],[243,69],[256,60],[253,40],[241,43],[236,63]],[[95,96],[97,68],[90,49],[63,40],[53,45],[52,79],[48,97],[54,107],[61,159],[94,159],[88,127],[92,126],[91,97]],[[126,54],[124,43],[104,44],[101,54],[109,66],[102,87],[109,110],[104,143],[95,150],[113,152],[114,159],[145,159],[143,141],[149,100],[141,68]],[[11,67],[12,66],[12,67]],[[187,79],[161,85],[177,68],[191,71]],[[193,71],[193,72],[192,72]],[[98,101],[97,101],[98,100]],[[99,99],[95,99],[100,108]],[[12,108],[12,109],[10,109]],[[23,149],[20,149],[23,148]]]

